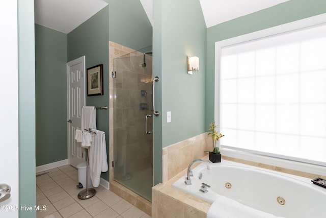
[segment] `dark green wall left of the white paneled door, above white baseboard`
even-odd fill
[[[35,25],[36,166],[67,159],[67,34]]]

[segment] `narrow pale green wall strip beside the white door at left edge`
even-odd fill
[[[19,205],[34,208],[36,205],[34,0],[18,0],[17,3]],[[19,217],[34,218],[36,211],[20,210]]]

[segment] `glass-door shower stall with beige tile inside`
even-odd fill
[[[112,72],[114,180],[149,201],[153,186],[155,83],[151,49],[113,59]]]

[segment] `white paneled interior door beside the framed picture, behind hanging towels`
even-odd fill
[[[85,56],[67,63],[68,161],[77,167],[85,161],[85,149],[75,140],[75,130],[82,126],[82,107],[85,106]]]

